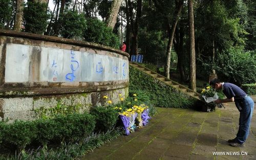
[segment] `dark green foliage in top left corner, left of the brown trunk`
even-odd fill
[[[4,28],[5,23],[12,16],[12,8],[10,0],[0,0],[0,29]]]

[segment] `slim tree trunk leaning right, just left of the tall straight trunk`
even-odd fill
[[[170,27],[170,24],[168,24],[168,44],[167,44],[167,50],[166,50],[166,63],[165,63],[165,76],[167,78],[170,78],[170,54],[172,51],[174,34],[175,34],[176,26],[179,20],[179,16],[181,13],[182,6],[183,6],[183,0],[177,3],[176,5],[175,19],[174,19],[172,28]]]

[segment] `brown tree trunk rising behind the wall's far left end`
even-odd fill
[[[23,6],[24,1],[23,0],[17,0],[16,2],[16,14],[15,14],[15,20],[14,20],[14,31],[22,31],[22,23],[23,23]]]

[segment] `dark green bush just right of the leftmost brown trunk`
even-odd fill
[[[42,34],[46,30],[47,20],[50,17],[47,11],[47,3],[28,2],[24,8],[25,31]]]

